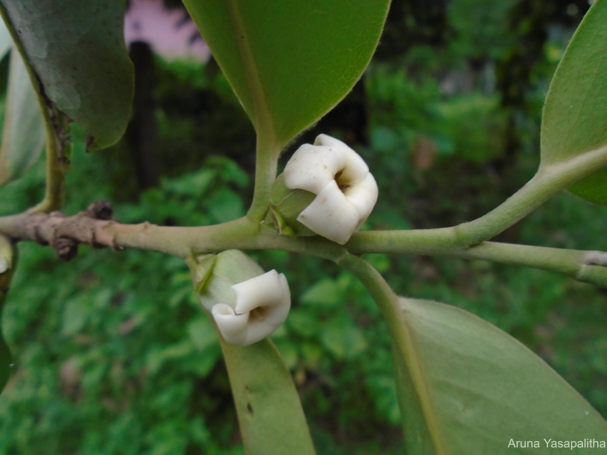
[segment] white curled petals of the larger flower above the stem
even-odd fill
[[[342,141],[325,134],[293,153],[284,178],[287,188],[316,194],[297,221],[340,244],[358,231],[378,198],[367,163]]]

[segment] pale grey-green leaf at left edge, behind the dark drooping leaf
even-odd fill
[[[19,52],[13,48],[0,147],[0,186],[21,177],[44,149],[44,120]]]

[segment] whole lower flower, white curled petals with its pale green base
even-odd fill
[[[211,312],[223,338],[247,346],[285,322],[291,293],[285,275],[263,269],[242,251],[198,258],[194,267],[200,303]]]

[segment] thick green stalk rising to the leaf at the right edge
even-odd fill
[[[540,166],[537,174],[503,204],[483,217],[455,226],[463,246],[489,240],[526,217],[560,190],[607,166],[607,146],[576,155],[561,163]]]

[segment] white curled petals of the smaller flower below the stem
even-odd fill
[[[285,275],[271,270],[231,286],[234,307],[217,303],[211,309],[223,338],[248,346],[264,339],[285,322],[291,308],[291,292]]]

